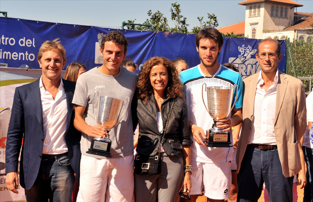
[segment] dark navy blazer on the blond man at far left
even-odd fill
[[[63,80],[67,99],[68,125],[65,141],[70,164],[79,179],[81,133],[73,125],[73,94],[76,82]],[[20,150],[20,183],[30,189],[34,184],[44,148],[44,124],[39,79],[15,89],[11,118],[6,140],[5,172],[17,172]],[[23,145],[22,145],[22,139]]]

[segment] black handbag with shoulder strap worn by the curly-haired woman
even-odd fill
[[[167,125],[168,125],[168,121],[172,113],[174,102],[175,102],[175,99],[173,100],[173,103],[172,103],[172,106],[171,106],[171,109],[170,109],[170,112],[168,114],[168,118],[165,124],[165,128],[163,129],[161,145],[163,144],[163,141],[164,141],[164,135],[167,130]],[[159,153],[157,153],[154,156],[136,154],[134,162],[135,162],[135,169],[134,169],[135,174],[158,175],[161,173],[161,159],[160,159]]]

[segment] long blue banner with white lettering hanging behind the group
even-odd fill
[[[29,67],[39,69],[37,54],[41,44],[45,40],[59,38],[67,51],[67,64],[73,61],[82,62],[89,70],[102,64],[99,42],[103,35],[111,30],[114,29],[1,17],[0,63],[5,63],[8,67],[27,64]],[[120,31],[129,41],[126,58],[135,62],[137,73],[143,63],[154,56],[169,60],[183,58],[188,62],[189,67],[200,63],[194,34]],[[255,74],[260,71],[260,66],[255,59],[259,41],[224,37],[219,62],[235,64],[242,77]],[[278,68],[285,72],[285,41],[279,40],[279,42],[282,45],[283,58]]]

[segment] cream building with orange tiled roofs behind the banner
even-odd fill
[[[244,0],[238,3],[246,6],[246,19],[226,27],[219,28],[222,33],[234,32],[251,39],[312,40],[313,13],[294,12],[294,8],[303,6],[293,0]],[[237,25],[237,26],[236,26]]]

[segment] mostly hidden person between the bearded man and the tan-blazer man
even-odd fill
[[[227,67],[230,70],[233,70],[235,72],[238,72],[237,67],[232,63],[224,63],[224,67]],[[227,202],[237,202],[237,195],[238,195],[238,184],[237,184],[237,165],[236,165],[236,152],[237,152],[237,145],[239,140],[239,134],[241,130],[241,123],[232,127],[233,132],[233,144],[234,144],[234,153],[233,153],[233,160],[230,163],[230,169],[231,169],[231,187],[229,191],[229,198],[227,199]]]

